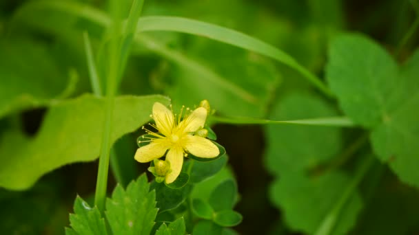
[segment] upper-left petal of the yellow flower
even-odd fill
[[[156,122],[157,129],[163,135],[169,136],[172,133],[174,116],[170,109],[167,109],[167,107],[159,102],[155,102],[153,105],[153,119]]]

